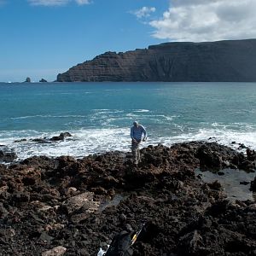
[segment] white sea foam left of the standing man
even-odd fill
[[[30,138],[43,138],[53,137],[61,131],[55,133],[38,133],[37,136]],[[26,140],[14,143],[15,140],[27,138],[27,134],[20,133],[19,137],[1,138],[0,144],[9,148],[15,149],[19,159],[26,159],[32,155],[47,155],[47,156],[60,156],[60,155],[73,155],[75,157],[83,157],[88,154],[102,153],[112,150],[127,151],[130,148],[130,134],[127,129],[88,129],[81,131],[71,131],[73,137],[67,137],[65,141],[53,143],[36,143],[31,140]]]

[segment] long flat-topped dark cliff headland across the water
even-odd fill
[[[256,81],[256,39],[166,43],[106,52],[57,76],[58,82]]]

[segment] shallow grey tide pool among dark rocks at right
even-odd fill
[[[256,175],[255,172],[245,172],[238,169],[224,169],[220,172],[202,172],[200,169],[196,169],[195,175],[200,175],[201,179],[206,183],[212,183],[218,180],[230,201],[256,201],[256,193],[250,191],[250,184]]]

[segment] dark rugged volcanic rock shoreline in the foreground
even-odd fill
[[[228,201],[220,183],[195,175],[255,172],[253,150],[192,142],[141,153],[139,166],[122,152],[0,165],[0,255],[96,255],[127,225],[146,222],[135,256],[256,255],[255,202]]]

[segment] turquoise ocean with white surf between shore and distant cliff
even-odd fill
[[[19,160],[128,151],[134,120],[148,131],[142,147],[205,140],[256,149],[256,83],[0,83],[0,120],[0,145]],[[32,142],[64,131],[73,137]]]

